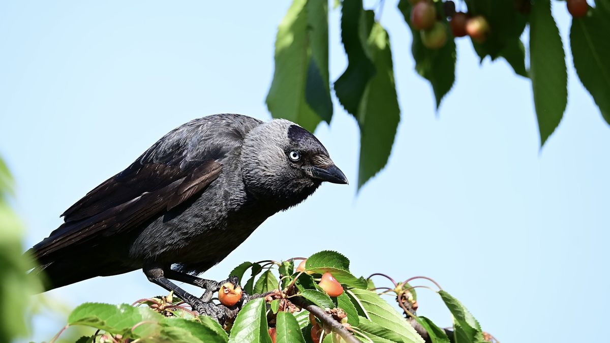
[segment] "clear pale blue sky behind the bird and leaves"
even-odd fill
[[[18,184],[27,247],[176,126],[221,112],[268,120],[276,27],[289,5],[0,2],[0,156]],[[570,18],[563,2],[553,5],[565,45]],[[346,67],[339,14],[329,10],[333,81]],[[458,40],[456,84],[436,112],[431,87],[414,72],[411,33],[395,1],[384,4],[381,23],[402,110],[387,167],[356,193],[359,132],[335,98],[331,125],[315,133],[350,185],[325,184],[269,218],[204,276],[222,280],[243,261],[332,249],[351,259],[357,275],[434,278],[503,343],[572,342],[603,329],[610,128],[578,81],[569,49],[567,110],[540,150],[531,84],[508,63],[479,65],[470,41]],[[48,297],[76,306],[160,293],[132,272]],[[419,297],[419,314],[450,326],[440,297],[425,289]],[[48,341],[63,325],[64,315],[44,312],[31,339]]]

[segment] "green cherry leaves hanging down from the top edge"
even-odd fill
[[[413,4],[417,1],[401,0],[398,10],[411,28],[415,70],[430,82],[439,109],[455,82],[455,40],[459,37],[454,37],[451,29],[454,13],[445,13],[451,0],[422,1],[434,4],[437,13],[434,26],[440,24],[444,28],[445,32],[437,34],[445,37],[442,38],[446,39],[445,43],[426,44],[422,39],[426,31],[416,29],[411,23]],[[383,2],[376,8],[377,13],[364,9],[361,0],[336,1],[335,4],[341,7],[341,42],[348,63],[334,82],[334,92],[339,103],[356,118],[361,132],[358,187],[362,187],[387,164],[401,110],[389,35],[375,21]],[[486,57],[492,61],[501,58],[511,65],[515,74],[531,78],[540,146],[543,146],[559,125],[567,105],[565,52],[551,15],[550,0],[465,0],[463,4],[466,8],[462,6],[462,10],[469,18],[483,18],[489,25],[486,32],[479,32],[480,36],[468,32],[480,62]],[[578,77],[610,123],[608,7],[607,1],[597,0],[596,6],[589,9],[589,15],[573,18],[570,46]],[[521,40],[528,25],[529,61]],[[398,40],[403,41],[402,38]],[[322,120],[329,122],[331,112],[328,109],[332,108],[332,103],[328,87],[325,1],[293,1],[278,29],[275,59],[273,83],[267,97],[271,114],[296,121],[310,130]],[[317,68],[310,68],[312,63]],[[529,65],[529,71],[526,65]],[[320,73],[310,73],[312,69],[319,69]]]

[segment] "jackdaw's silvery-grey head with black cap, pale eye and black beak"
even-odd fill
[[[348,183],[322,143],[311,132],[284,119],[250,131],[240,158],[248,190],[256,197],[276,201],[282,209],[309,197],[321,182]]]

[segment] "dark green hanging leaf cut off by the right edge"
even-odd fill
[[[572,18],[570,45],[578,78],[610,124],[610,10],[601,8],[598,5],[589,9],[589,16]]]

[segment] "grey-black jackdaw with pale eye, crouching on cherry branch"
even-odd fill
[[[152,283],[218,319],[223,311],[210,299],[224,281],[198,275],[325,181],[348,183],[325,146],[292,121],[198,118],[63,212],[62,225],[27,252],[38,262],[32,273],[43,274],[49,291],[142,269]],[[206,293],[196,297],[171,280]]]

